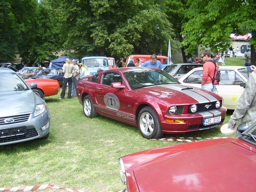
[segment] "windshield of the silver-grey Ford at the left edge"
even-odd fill
[[[0,75],[1,92],[26,91],[29,87],[15,73],[1,73]]]

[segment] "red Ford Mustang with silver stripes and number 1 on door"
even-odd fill
[[[101,114],[128,123],[147,139],[216,127],[226,116],[221,96],[153,68],[106,70],[80,79],[76,90],[86,117]]]

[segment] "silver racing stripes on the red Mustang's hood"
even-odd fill
[[[199,103],[208,103],[208,102],[216,101],[216,98],[214,96],[211,96],[207,92],[203,92],[195,87],[187,87],[181,84],[170,84],[170,85],[166,84],[161,86],[182,92],[192,97],[194,100],[197,100]],[[200,92],[203,93],[203,96],[202,94],[200,94]]]

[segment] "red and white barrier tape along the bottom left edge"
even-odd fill
[[[35,185],[35,186],[26,186],[26,187],[16,187],[16,188],[0,188],[0,191],[7,191],[7,192],[28,192],[28,191],[38,191],[44,189],[62,189],[68,192],[86,192],[79,189],[70,189],[70,188],[61,188],[51,184],[43,184],[43,185]],[[121,190],[122,191],[122,190]],[[111,191],[111,192],[121,192],[121,191]],[[110,191],[108,191],[110,192]]]

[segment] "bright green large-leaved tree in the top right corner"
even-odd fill
[[[183,26],[185,35],[182,46],[192,53],[198,45],[219,52],[230,47],[231,33],[252,32],[251,63],[256,64],[256,12],[254,0],[188,0],[190,8]],[[241,34],[243,35],[243,34]]]

